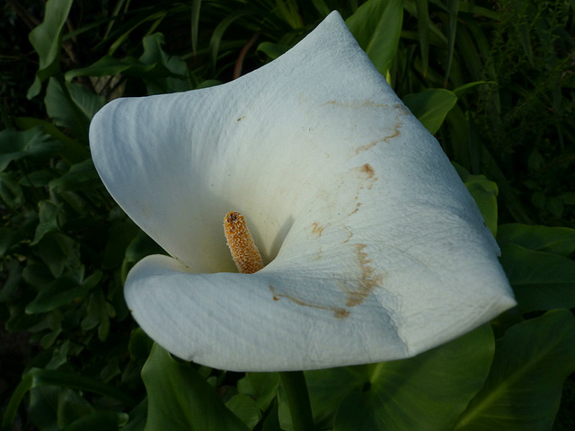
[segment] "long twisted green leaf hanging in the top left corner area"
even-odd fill
[[[62,29],[72,3],[74,0],[49,0],[46,3],[44,21],[30,33],[30,43],[40,56],[40,68],[34,84],[28,90],[28,99],[38,95],[41,83],[60,70]]]

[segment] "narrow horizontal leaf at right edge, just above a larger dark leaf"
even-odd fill
[[[497,242],[500,246],[512,243],[533,251],[546,251],[569,257],[575,252],[575,229],[518,223],[501,224]]]

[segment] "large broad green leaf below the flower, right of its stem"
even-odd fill
[[[419,356],[307,372],[316,426],[334,431],[447,430],[484,383],[493,356],[489,325]]]

